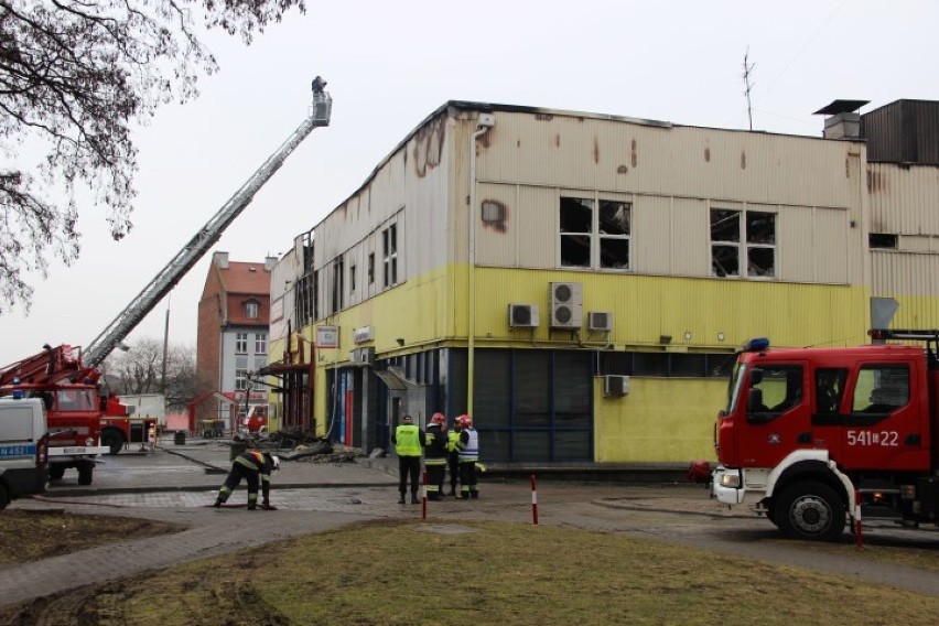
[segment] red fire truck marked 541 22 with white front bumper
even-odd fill
[[[800,539],[833,541],[861,519],[939,525],[939,330],[870,335],[745,344],[715,424],[713,497]]]

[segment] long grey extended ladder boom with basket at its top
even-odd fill
[[[108,327],[98,335],[83,354],[88,367],[97,367],[115,347],[150,313],[173,287],[218,240],[231,222],[245,209],[255,194],[283,164],[283,161],[300,145],[314,128],[330,125],[333,100],[325,91],[313,94],[310,117],[278,148],[273,154],[241,185],[235,195],[218,209],[212,219],[186,244],[182,250],[150,281],[150,284],[118,314]]]

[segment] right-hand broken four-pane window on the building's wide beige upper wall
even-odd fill
[[[743,248],[741,241],[744,241]],[[744,253],[746,266],[742,270],[741,258]],[[711,209],[711,274],[721,278],[774,278],[776,214]]]

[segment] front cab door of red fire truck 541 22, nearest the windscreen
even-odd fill
[[[774,467],[792,450],[811,447],[806,371],[801,363],[764,363],[751,371],[747,428],[740,442],[744,466]]]

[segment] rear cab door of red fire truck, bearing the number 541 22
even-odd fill
[[[928,399],[910,392],[909,364],[864,364],[851,392],[842,430],[846,470],[928,470],[922,430]]]

